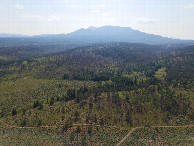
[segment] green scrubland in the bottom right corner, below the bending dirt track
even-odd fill
[[[122,145],[193,145],[194,127],[139,128]]]

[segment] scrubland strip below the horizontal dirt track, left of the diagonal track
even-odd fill
[[[87,145],[115,145],[127,134],[127,130],[112,127],[93,126],[91,134],[87,133],[88,126],[81,126],[80,133],[76,129],[62,132],[61,128],[4,128],[0,131],[0,145],[83,145],[84,141]]]

